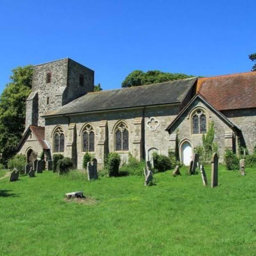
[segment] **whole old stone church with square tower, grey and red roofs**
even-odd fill
[[[211,122],[220,162],[225,149],[256,145],[256,72],[188,78],[93,92],[94,71],[69,58],[34,66],[26,128],[17,146],[31,163],[60,153],[82,169],[91,153],[100,168],[109,152],[122,161],[178,151],[189,165]]]

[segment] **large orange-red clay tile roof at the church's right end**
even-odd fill
[[[198,78],[196,91],[218,110],[256,108],[256,72]]]

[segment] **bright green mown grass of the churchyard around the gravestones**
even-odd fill
[[[171,172],[87,181],[73,172],[0,180],[0,255],[255,255],[256,168],[219,168],[219,186]],[[76,179],[76,177],[80,177]],[[95,204],[66,202],[84,191]]]

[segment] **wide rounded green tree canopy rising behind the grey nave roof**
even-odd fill
[[[126,78],[122,82],[122,87],[126,88],[131,86],[140,86],[144,84],[162,83],[189,77],[195,76],[181,73],[167,73],[159,70],[149,70],[148,72],[134,70],[128,76],[126,76]]]

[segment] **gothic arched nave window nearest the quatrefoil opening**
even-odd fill
[[[127,125],[123,122],[117,125],[115,130],[115,149],[116,151],[129,150],[129,131]]]

